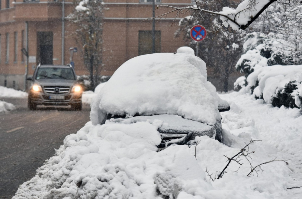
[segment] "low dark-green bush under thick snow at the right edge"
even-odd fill
[[[243,90],[256,99],[281,107],[301,107],[302,65],[266,66],[252,72]],[[238,81],[239,82],[239,81]]]

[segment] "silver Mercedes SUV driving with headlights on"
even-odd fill
[[[37,105],[68,106],[82,109],[82,87],[70,65],[39,65],[34,71],[28,93],[28,108]]]

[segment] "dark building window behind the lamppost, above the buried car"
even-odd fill
[[[161,52],[160,31],[155,31],[155,53]],[[138,55],[152,53],[152,31],[140,30],[138,32]]]

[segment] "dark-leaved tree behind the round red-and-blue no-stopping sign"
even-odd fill
[[[238,3],[237,3],[238,4]],[[228,0],[202,1],[199,5],[206,9],[220,10],[223,6],[235,6],[236,2]],[[222,21],[213,14],[201,14],[191,11],[191,15],[179,22],[179,29],[175,36],[183,36],[189,46],[196,49],[198,45],[198,57],[207,63],[209,76],[219,79],[223,85],[223,91],[228,91],[229,77],[234,72],[234,66],[242,53],[242,39],[244,31],[234,31],[229,28],[221,28]],[[196,24],[203,25],[207,30],[207,37],[201,42],[191,39],[190,30]],[[214,30],[214,31],[213,31]]]

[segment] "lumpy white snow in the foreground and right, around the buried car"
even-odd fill
[[[170,146],[156,152],[160,143],[156,131],[160,122],[117,124],[88,122],[76,134],[67,136],[31,180],[20,185],[16,198],[164,198],[158,194],[185,198],[302,198],[302,117],[299,109],[274,108],[243,92],[220,94],[231,110],[221,113],[223,144],[198,137],[196,146]],[[72,133],[72,132],[71,132]],[[274,161],[251,171],[241,158],[232,161],[226,173],[214,182],[226,166],[227,157],[240,152],[250,140],[252,166]],[[195,159],[196,155],[196,159]],[[107,197],[105,197],[107,196]]]

